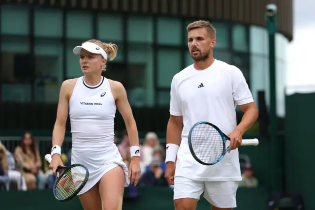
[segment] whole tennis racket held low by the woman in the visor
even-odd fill
[[[51,163],[51,155],[46,154],[45,159]],[[61,173],[60,173],[61,171]],[[76,196],[89,179],[89,170],[81,164],[59,166],[53,188],[54,196],[61,202],[69,201]]]

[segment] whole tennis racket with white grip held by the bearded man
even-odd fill
[[[226,140],[230,140],[216,125],[210,122],[197,122],[189,131],[189,150],[197,162],[202,165],[218,163],[229,147],[225,148]],[[243,139],[242,146],[257,146],[258,139]]]

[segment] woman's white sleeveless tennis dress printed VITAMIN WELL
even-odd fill
[[[108,79],[102,77],[96,86],[89,86],[84,76],[78,78],[69,100],[72,133],[71,164],[85,165],[89,180],[78,193],[91,189],[109,170],[120,165],[129,186],[128,168],[114,144],[115,100]]]

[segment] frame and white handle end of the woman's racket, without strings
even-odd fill
[[[50,154],[46,154],[45,155],[45,159],[47,160],[47,162],[51,162],[52,158],[51,158],[51,155]],[[74,168],[74,167],[83,167],[85,169],[85,172],[86,172],[86,175],[85,175],[85,178],[83,180],[83,182],[80,184],[80,186],[78,187],[78,189],[76,189],[74,191],[74,193],[72,193],[69,197],[65,198],[65,199],[59,199],[57,197],[57,193],[56,193],[56,186],[57,186],[57,183],[58,181],[63,177],[63,175],[65,174],[65,172],[67,170],[70,170],[71,168]],[[63,169],[63,173],[61,173],[59,175],[59,170],[62,170]],[[87,183],[87,181],[89,180],[89,176],[90,176],[90,173],[89,173],[89,170],[88,168],[85,166],[85,165],[82,165],[82,164],[72,164],[70,166],[58,166],[57,170],[56,170],[56,179],[55,179],[55,183],[54,183],[54,187],[53,187],[53,193],[54,193],[54,196],[57,200],[59,200],[60,202],[67,202],[71,199],[73,199],[81,190],[82,188],[85,186],[85,184]]]

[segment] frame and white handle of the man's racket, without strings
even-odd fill
[[[194,130],[194,128],[199,125],[199,124],[208,124],[210,126],[212,126],[213,128],[215,128],[220,136],[221,136],[221,139],[222,139],[222,143],[223,143],[223,150],[222,150],[222,154],[221,156],[218,158],[217,161],[215,162],[212,162],[212,163],[205,163],[205,162],[202,162],[201,160],[199,160],[199,158],[197,157],[197,155],[194,153],[193,149],[192,149],[192,144],[191,144],[191,135],[192,135],[192,132]],[[226,152],[228,151],[229,149],[229,146],[227,148],[225,148],[225,142],[226,140],[229,140],[230,141],[230,137],[228,137],[227,135],[225,135],[221,130],[220,128],[218,128],[216,125],[210,123],[210,122],[206,122],[206,121],[200,121],[200,122],[197,122],[195,123],[189,130],[189,134],[188,134],[188,146],[189,146],[189,150],[190,150],[190,153],[192,154],[193,158],[200,164],[202,165],[206,165],[206,166],[211,166],[211,165],[214,165],[216,163],[218,163],[223,157],[224,155],[226,154]],[[243,139],[242,140],[242,144],[241,145],[244,145],[244,146],[257,146],[258,145],[258,139]]]

